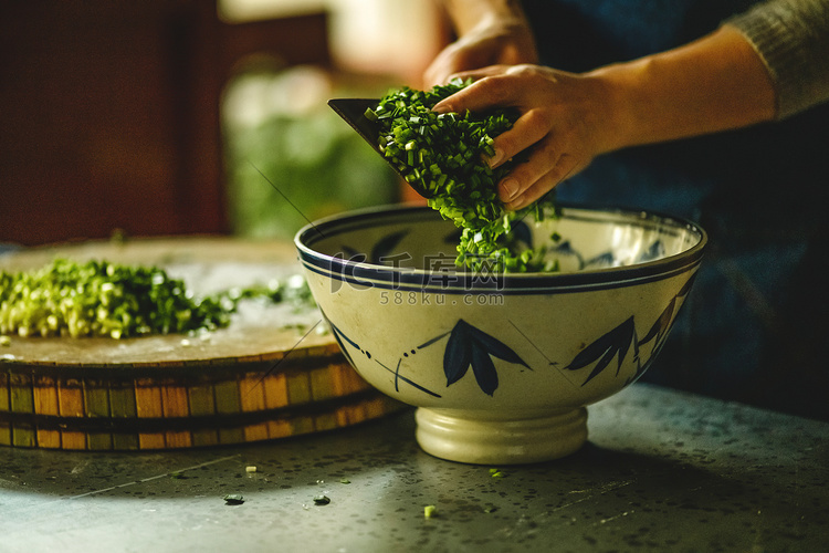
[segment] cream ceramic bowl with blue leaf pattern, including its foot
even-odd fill
[[[354,368],[417,406],[427,452],[526,463],[576,451],[586,406],[659,353],[706,246],[694,223],[564,207],[514,227],[554,273],[457,271],[459,232],[426,207],[346,212],[295,237],[308,285]]]

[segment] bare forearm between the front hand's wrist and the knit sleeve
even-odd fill
[[[768,70],[731,27],[586,76],[608,96],[607,152],[745,127],[776,114]]]

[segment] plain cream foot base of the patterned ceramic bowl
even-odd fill
[[[418,408],[417,440],[434,457],[476,465],[518,465],[568,456],[587,441],[587,409],[492,420]]]

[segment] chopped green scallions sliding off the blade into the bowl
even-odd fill
[[[526,217],[539,221],[555,216],[552,199],[518,211],[506,211],[497,197],[497,182],[515,159],[491,168],[494,137],[508,129],[514,115],[490,113],[438,114],[432,107],[469,85],[454,80],[430,91],[409,87],[391,92],[366,117],[379,126],[378,147],[428,205],[462,229],[457,264],[472,271],[552,271],[544,260],[512,234],[513,225]]]

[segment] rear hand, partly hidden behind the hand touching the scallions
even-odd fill
[[[461,71],[536,63],[537,59],[533,33],[524,21],[496,20],[472,29],[443,49],[423,73],[423,85],[445,84]]]

